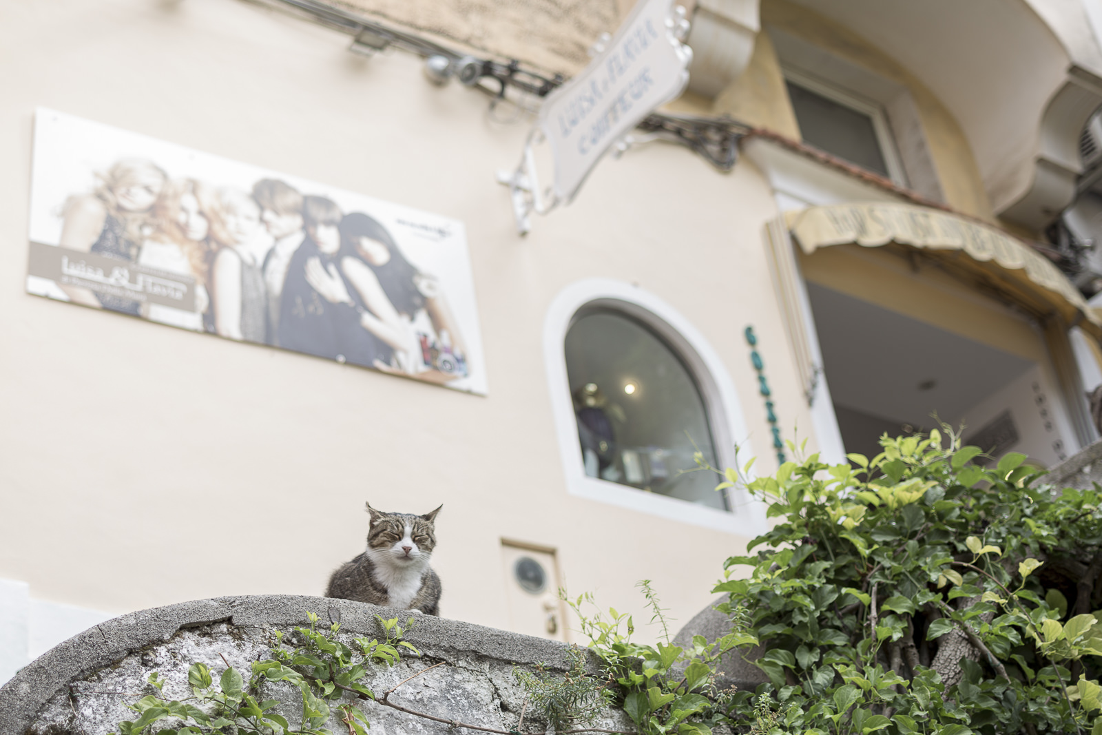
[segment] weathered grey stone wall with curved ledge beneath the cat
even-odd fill
[[[276,629],[290,633],[307,624],[306,613],[322,623],[339,615],[338,637],[348,642],[358,636],[381,638],[376,615],[404,621],[408,610],[323,597],[264,595],[219,597],[141,610],[118,617],[57,646],[0,689],[0,735],[105,735],[122,720],[134,718],[125,702],[155,693],[147,683],[151,671],[169,680],[164,695],[191,695],[187,669],[206,663],[220,675],[227,663],[248,678],[251,661],[268,658]],[[458,620],[417,616],[406,639],[422,653],[406,657],[393,668],[376,667],[367,685],[381,693],[402,679],[443,661],[444,664],[402,685],[391,695],[403,706],[471,724],[512,729],[523,701],[514,674],[516,667],[531,670],[570,668],[570,647]],[[592,656],[592,655],[590,655]],[[591,659],[596,664],[596,660]],[[264,699],[280,701],[277,711],[291,721],[301,718],[298,690],[285,683],[264,683]],[[411,716],[374,702],[357,702],[371,721],[376,735],[444,735],[449,726]],[[532,712],[526,721],[539,726]],[[595,724],[631,729],[626,715],[608,709]],[[346,727],[332,717],[333,732]],[[525,729],[529,729],[526,725]]]

